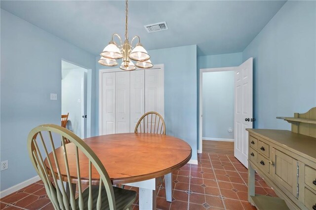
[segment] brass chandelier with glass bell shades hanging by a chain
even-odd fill
[[[122,44],[122,40],[118,34],[113,34],[112,39],[109,44],[101,52],[101,58],[98,61],[99,64],[114,67],[118,65],[117,59],[122,59],[122,63],[119,66],[122,70],[135,70],[136,67],[142,69],[149,69],[153,67],[152,62],[149,60],[150,55],[147,53],[143,45],[140,43],[140,37],[134,36],[132,41],[128,41],[128,31],[127,31],[127,0],[125,1],[125,41]],[[114,37],[117,36],[120,44],[114,41]],[[135,47],[132,46],[132,43],[135,38],[138,38],[138,43]],[[136,64],[132,62],[136,61]]]

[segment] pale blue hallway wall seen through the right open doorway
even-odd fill
[[[204,72],[203,138],[234,140],[235,72]]]

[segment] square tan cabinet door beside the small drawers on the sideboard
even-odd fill
[[[273,148],[273,176],[276,185],[285,187],[297,197],[297,165],[298,161],[291,156]]]

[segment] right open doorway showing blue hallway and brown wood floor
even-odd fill
[[[204,152],[234,154],[234,70],[202,72]]]

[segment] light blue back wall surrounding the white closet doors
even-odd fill
[[[164,64],[166,134],[187,141],[192,147],[192,159],[197,160],[197,45],[149,50],[148,53],[153,64]],[[96,69],[106,68],[97,63]],[[99,73],[96,74],[96,81],[98,95]],[[98,100],[96,110],[98,134]]]

